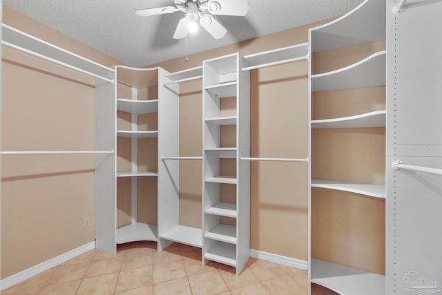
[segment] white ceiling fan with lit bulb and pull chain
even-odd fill
[[[158,8],[145,8],[135,10],[136,15],[150,17],[151,15],[163,15],[182,11],[185,16],[180,19],[173,35],[174,39],[186,37],[187,31],[195,31],[198,28],[197,21],[215,39],[226,35],[226,28],[212,15],[235,15],[244,16],[249,12],[247,0],[175,0],[175,7],[166,6]],[[204,13],[203,12],[209,12]]]

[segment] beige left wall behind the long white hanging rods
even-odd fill
[[[97,50],[3,7],[3,22],[108,66]],[[95,149],[95,79],[3,47],[1,149]],[[3,155],[1,278],[94,240],[93,155]],[[90,227],[83,227],[90,216]]]

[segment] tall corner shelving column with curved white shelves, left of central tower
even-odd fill
[[[159,72],[159,68],[139,69],[117,66],[117,95],[126,97],[117,97],[116,102],[117,111],[119,111],[116,133],[117,200],[123,198],[123,196],[118,196],[123,191],[122,195],[124,196],[128,195],[126,190],[131,191],[131,221],[128,225],[117,229],[117,244],[137,240],[157,241]],[[141,126],[142,128],[140,128]],[[130,185],[124,181],[127,178],[130,179]],[[148,178],[155,178],[155,180]],[[147,205],[149,208],[145,208],[155,215],[154,217],[148,216],[149,222],[140,222],[138,216],[139,187],[144,184],[147,184],[145,190],[153,198]],[[121,187],[118,188],[118,186]],[[152,195],[154,196],[152,197]],[[120,211],[128,210],[127,207],[118,209]]]

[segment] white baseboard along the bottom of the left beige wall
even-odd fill
[[[27,280],[28,278],[32,278],[32,276],[36,276],[37,274],[40,274],[41,272],[45,272],[46,270],[55,267],[61,263],[64,263],[65,261],[74,258],[76,256],[79,256],[80,254],[84,254],[85,252],[95,249],[95,241],[89,242],[86,245],[80,246],[78,248],[75,248],[73,250],[70,250],[66,252],[65,254],[61,254],[57,257],[54,257],[50,260],[46,260],[43,263],[39,263],[38,265],[35,265],[33,267],[30,267],[28,269],[23,270],[22,272],[19,272],[18,274],[14,274],[12,276],[9,276],[8,278],[3,278],[3,280],[0,280],[0,291],[3,291],[4,289],[7,289],[9,287],[12,287],[13,285],[16,285],[20,282],[23,282],[23,280]]]

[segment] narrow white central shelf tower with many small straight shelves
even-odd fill
[[[250,75],[241,69],[238,53],[203,62],[202,253],[237,275],[250,251],[250,164],[240,160],[250,154]],[[236,112],[226,115],[232,98]]]

